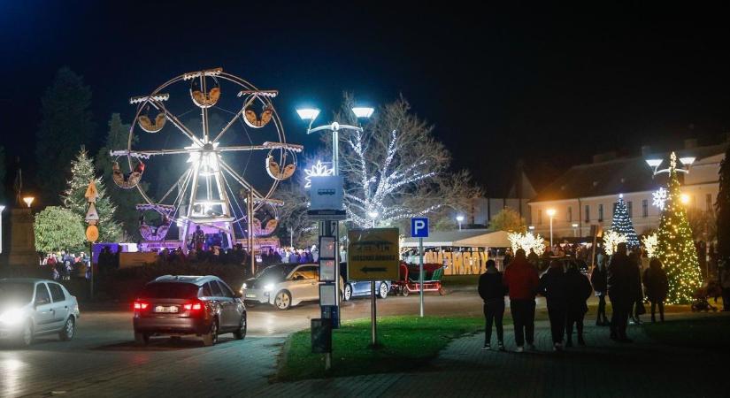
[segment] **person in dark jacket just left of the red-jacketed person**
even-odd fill
[[[502,284],[502,272],[497,271],[494,260],[487,261],[487,271],[479,277],[479,295],[484,301],[484,347],[492,348],[492,323],[496,327],[496,341],[500,351],[504,350],[504,295],[507,288]]]

